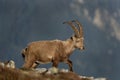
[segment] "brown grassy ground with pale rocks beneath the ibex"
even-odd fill
[[[80,76],[67,69],[36,68],[30,70],[15,68],[14,61],[0,62],[0,80],[107,80]]]

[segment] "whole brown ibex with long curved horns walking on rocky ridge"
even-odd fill
[[[72,61],[69,56],[75,49],[84,49],[84,37],[82,25],[78,20],[67,21],[63,24],[68,24],[74,30],[74,36],[69,39],[62,40],[46,40],[31,42],[23,49],[22,56],[25,59],[23,68],[36,68],[39,63],[52,62],[53,67],[58,67],[59,62],[65,62],[72,69]],[[75,27],[75,24],[77,27]]]

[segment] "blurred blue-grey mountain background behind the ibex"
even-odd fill
[[[0,61],[24,61],[29,42],[65,40],[73,31],[64,21],[78,19],[85,50],[71,55],[74,71],[84,76],[120,79],[120,0],[0,0]],[[51,64],[39,67],[50,67]],[[60,68],[68,68],[60,63]]]

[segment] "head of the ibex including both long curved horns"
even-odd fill
[[[69,24],[74,30],[75,34],[74,36],[71,37],[71,39],[74,41],[74,47],[80,50],[83,50],[84,49],[84,37],[83,37],[83,28],[82,28],[81,23],[78,20],[67,21],[67,22],[64,22],[63,24],[65,23]],[[75,27],[73,23],[77,24],[78,29],[77,27]]]

